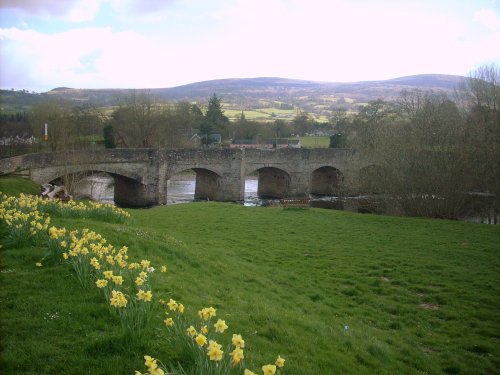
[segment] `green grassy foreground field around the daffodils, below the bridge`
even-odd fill
[[[158,294],[188,314],[217,308],[257,373],[278,354],[284,374],[498,373],[498,226],[207,202],[129,212],[128,224],[54,224],[166,263]],[[97,289],[67,265],[35,267],[43,248],[0,238],[2,374],[133,374],[144,354],[186,361],[160,310],[129,343]]]

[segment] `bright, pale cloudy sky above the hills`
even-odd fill
[[[0,88],[325,82],[500,65],[500,0],[0,0]]]

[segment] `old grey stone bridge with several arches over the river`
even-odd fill
[[[115,202],[144,207],[167,202],[167,181],[196,172],[195,198],[242,201],[245,177],[258,175],[261,197],[357,192],[370,163],[348,149],[107,149],[27,154],[0,159],[0,176],[25,172],[44,184],[84,172],[114,178]]]

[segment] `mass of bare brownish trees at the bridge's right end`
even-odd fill
[[[486,207],[496,218],[499,82],[500,69],[483,66],[455,98],[406,90],[397,102],[372,101],[351,117],[338,111],[331,146],[370,155],[362,192],[384,196],[405,215],[458,218]]]

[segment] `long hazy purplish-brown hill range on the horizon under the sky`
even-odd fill
[[[434,90],[453,94],[464,77],[424,74],[382,81],[316,82],[278,77],[232,78],[191,83],[188,85],[149,89],[151,94],[168,101],[186,100],[206,103],[212,94],[222,97],[228,109],[299,108],[328,115],[342,107],[355,109],[359,104],[375,99],[395,100],[403,89]],[[75,103],[91,103],[107,107],[122,103],[134,90],[74,89],[58,87],[43,94],[1,90],[2,108],[15,104],[26,108],[39,100],[62,98]],[[35,96],[35,97],[33,97]],[[25,103],[23,103],[23,98]]]

